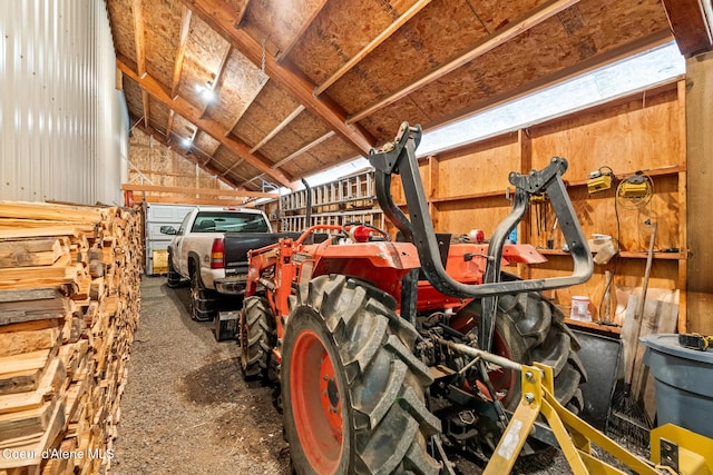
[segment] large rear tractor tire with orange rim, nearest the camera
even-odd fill
[[[432,383],[411,348],[416,329],[393,298],[320,276],[287,319],[281,365],[285,435],[297,474],[437,474],[427,441]]]

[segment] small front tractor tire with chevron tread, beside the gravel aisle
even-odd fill
[[[274,316],[263,297],[247,297],[241,311],[241,366],[245,379],[267,379],[274,348]]]

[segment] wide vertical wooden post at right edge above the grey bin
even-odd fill
[[[713,52],[686,60],[687,330],[713,334]]]

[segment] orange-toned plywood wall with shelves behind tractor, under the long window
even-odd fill
[[[573,295],[589,296],[596,318],[605,270],[614,271],[616,288],[642,287],[649,222],[658,224],[649,287],[685,288],[686,156],[682,137],[685,137],[685,85],[678,81],[424,158],[420,169],[437,231],[459,235],[477,228],[489,237],[510,209],[506,198],[506,188],[512,189],[507,181],[508,172],[541,169],[553,156],[567,158],[569,169],[565,180],[585,236],[618,236],[622,246],[617,259],[595,265],[588,283],[554,295],[563,307],[569,306]],[[614,187],[589,195],[586,186],[589,172],[605,166],[616,175]],[[636,209],[615,206],[618,181],[638,170],[653,180],[649,204]],[[398,179],[393,188],[395,202],[403,205]],[[547,206],[547,226],[540,216],[538,232],[536,210],[537,207],[531,207],[529,217],[520,225],[518,240],[546,248],[554,214]],[[554,250],[543,250],[548,263],[518,271],[524,277],[568,274],[570,259],[561,245],[561,232],[557,230]],[[664,249],[668,251],[663,253]],[[682,294],[680,330],[686,327],[684,297]]]

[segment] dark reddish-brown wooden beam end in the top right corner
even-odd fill
[[[681,55],[690,58],[713,49],[713,11],[710,1],[663,0],[663,3]]]

